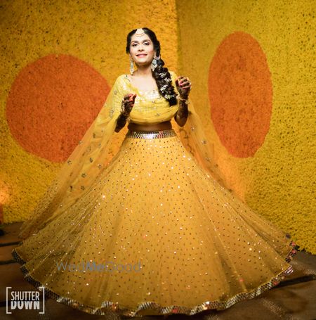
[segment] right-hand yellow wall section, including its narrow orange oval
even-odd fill
[[[220,167],[250,207],[315,254],[315,2],[176,5],[179,67]]]

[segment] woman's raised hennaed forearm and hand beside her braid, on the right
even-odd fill
[[[179,76],[176,79],[176,87],[178,89],[180,98],[179,98],[179,108],[174,116],[174,120],[178,123],[180,127],[185,125],[187,122],[188,111],[188,103],[189,103],[189,93],[191,90],[191,82],[188,77]]]

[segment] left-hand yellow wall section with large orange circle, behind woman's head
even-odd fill
[[[84,132],[80,120],[88,117],[87,126],[108,87],[129,72],[128,32],[154,30],[166,66],[176,70],[177,24],[169,0],[7,0],[0,17],[0,204],[10,223],[29,216],[72,136]]]

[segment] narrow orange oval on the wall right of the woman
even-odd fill
[[[237,158],[253,156],[272,113],[272,81],[258,41],[234,32],[218,46],[209,68],[211,119],[221,143]]]

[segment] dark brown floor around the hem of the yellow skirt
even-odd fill
[[[129,319],[117,314],[107,317],[86,314],[52,299],[46,300],[45,314],[27,309],[13,310],[12,314],[6,314],[6,287],[23,291],[34,290],[34,287],[23,279],[20,264],[15,263],[11,256],[11,251],[18,245],[20,225],[21,223],[1,225],[4,235],[0,236],[0,319]],[[298,250],[291,264],[294,272],[278,286],[223,311],[209,310],[195,316],[144,316],[142,319],[316,319],[316,256]]]

